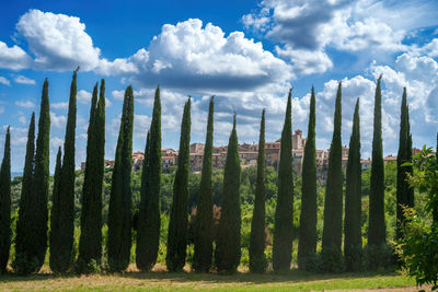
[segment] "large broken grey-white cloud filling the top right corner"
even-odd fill
[[[297,73],[309,74],[332,68],[327,48],[356,51],[362,59],[406,50],[402,42],[408,32],[438,24],[431,12],[436,9],[436,3],[427,1],[264,0],[258,11],[242,21],[247,28],[283,44],[277,54],[290,60]],[[302,70],[315,62],[320,62],[318,68]]]

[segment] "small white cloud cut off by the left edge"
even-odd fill
[[[8,47],[7,44],[0,42],[0,68],[21,70],[28,68],[32,58],[19,46]]]

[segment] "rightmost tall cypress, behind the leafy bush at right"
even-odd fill
[[[406,87],[403,89],[403,97],[400,115],[400,138],[397,153],[397,180],[396,180],[396,240],[402,237],[402,226],[405,220],[403,207],[414,207],[414,189],[407,182],[408,175],[413,175],[412,166],[402,166],[412,160],[412,136],[410,127],[410,112],[407,106]]]

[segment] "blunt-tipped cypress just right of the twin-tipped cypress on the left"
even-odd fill
[[[125,270],[130,259],[132,129],[134,95],[129,85],[125,91],[110,197],[107,250],[113,271]]]

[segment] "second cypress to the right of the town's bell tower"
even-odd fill
[[[324,201],[324,229],[322,233],[322,264],[325,271],[339,271],[342,265],[342,218],[343,218],[343,177],[342,177],[342,83],[339,82],[332,144],[328,153],[327,183]]]

